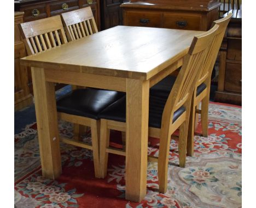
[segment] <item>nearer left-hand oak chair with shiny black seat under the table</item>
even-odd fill
[[[60,16],[21,23],[19,28],[28,54],[36,54],[67,43]],[[34,70],[37,69],[31,69],[32,77],[34,76]],[[36,87],[34,83],[33,87]],[[121,96],[124,96],[124,93],[88,88],[73,90],[57,101],[57,111],[60,119],[74,123],[74,125],[91,127],[92,145],[85,144],[76,137],[74,139],[61,137],[61,140],[67,144],[92,150],[96,178],[101,177],[98,148],[100,119],[98,119],[97,114],[120,99]],[[38,114],[37,106],[36,114]]]

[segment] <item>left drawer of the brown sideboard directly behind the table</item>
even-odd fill
[[[127,25],[141,27],[161,27],[161,13],[128,11]]]

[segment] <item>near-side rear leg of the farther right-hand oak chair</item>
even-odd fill
[[[188,126],[188,141],[187,141],[187,154],[188,156],[194,155],[194,133],[195,133],[195,94],[191,100],[189,126]],[[181,131],[181,127],[179,129]]]

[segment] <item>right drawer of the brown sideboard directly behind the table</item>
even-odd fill
[[[200,30],[201,15],[164,13],[163,27],[171,29]]]

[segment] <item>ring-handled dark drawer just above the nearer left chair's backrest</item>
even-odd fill
[[[25,22],[39,20],[47,17],[45,4],[38,4],[38,5],[33,5],[32,7],[31,6],[25,7],[23,11],[24,11]]]

